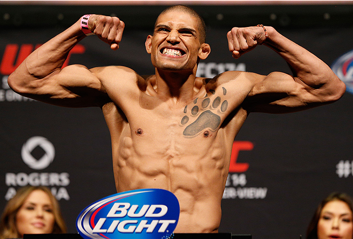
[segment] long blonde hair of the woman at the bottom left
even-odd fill
[[[57,202],[53,194],[50,192],[50,190],[47,187],[43,186],[26,186],[20,188],[17,191],[16,195],[12,199],[10,199],[7,205],[5,206],[0,221],[0,239],[20,237],[16,227],[16,214],[19,208],[23,205],[24,201],[27,199],[27,197],[35,190],[42,190],[43,192],[48,194],[52,203],[52,212],[55,219],[52,233],[67,232],[66,225],[60,211],[59,203]]]

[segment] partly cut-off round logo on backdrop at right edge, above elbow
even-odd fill
[[[331,68],[353,94],[353,50],[336,59]]]

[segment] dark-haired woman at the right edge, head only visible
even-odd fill
[[[353,238],[352,199],[345,193],[332,193],[316,208],[307,229],[307,239]]]

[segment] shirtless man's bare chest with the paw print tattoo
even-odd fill
[[[170,106],[165,102],[144,101],[146,105],[129,111],[127,119],[137,136],[143,132],[163,138],[209,138],[217,134],[229,114],[228,101],[220,96],[196,98],[187,105]],[[155,104],[153,107],[148,107]],[[140,130],[139,130],[140,129]],[[151,132],[152,131],[152,132]],[[154,135],[154,136],[157,136]]]

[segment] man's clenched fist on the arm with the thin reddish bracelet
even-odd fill
[[[266,40],[265,32],[261,26],[233,27],[227,33],[229,51],[234,58],[255,48]]]

